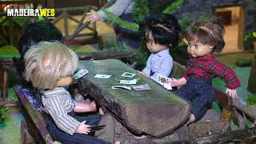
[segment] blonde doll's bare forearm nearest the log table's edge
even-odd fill
[[[90,104],[77,102],[77,105],[74,107],[74,112],[76,113],[86,113],[90,111],[96,111],[95,102],[90,102]]]

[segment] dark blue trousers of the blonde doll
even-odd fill
[[[70,112],[69,115],[73,118],[76,118],[79,122],[86,121],[87,125],[98,125],[102,116],[100,115],[89,115],[78,116],[75,115],[74,112]],[[102,139],[94,138],[93,134],[77,134],[73,135],[66,134],[64,131],[60,130],[54,120],[52,118],[48,118],[46,121],[46,128],[50,133],[50,136],[54,139],[54,141],[61,142],[63,144],[106,144],[109,142],[105,142]]]

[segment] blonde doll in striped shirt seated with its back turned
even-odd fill
[[[74,74],[78,66],[74,51],[59,42],[39,42],[26,51],[24,59],[24,78],[42,91],[42,105],[54,120],[46,123],[52,138],[62,143],[107,143],[87,135],[88,126],[98,125],[100,115],[78,121],[74,114],[95,111],[95,102],[75,102],[67,90],[58,87],[58,82]]]

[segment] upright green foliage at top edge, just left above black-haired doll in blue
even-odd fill
[[[132,13],[134,22],[138,24],[142,23],[144,17],[150,14],[148,0],[136,0]]]

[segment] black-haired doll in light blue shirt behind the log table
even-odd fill
[[[146,39],[146,47],[151,54],[146,67],[140,72],[142,75],[157,81],[158,74],[165,77],[170,75],[173,58],[169,53],[169,46],[178,46],[181,26],[172,14],[155,14],[145,18],[142,32]]]

